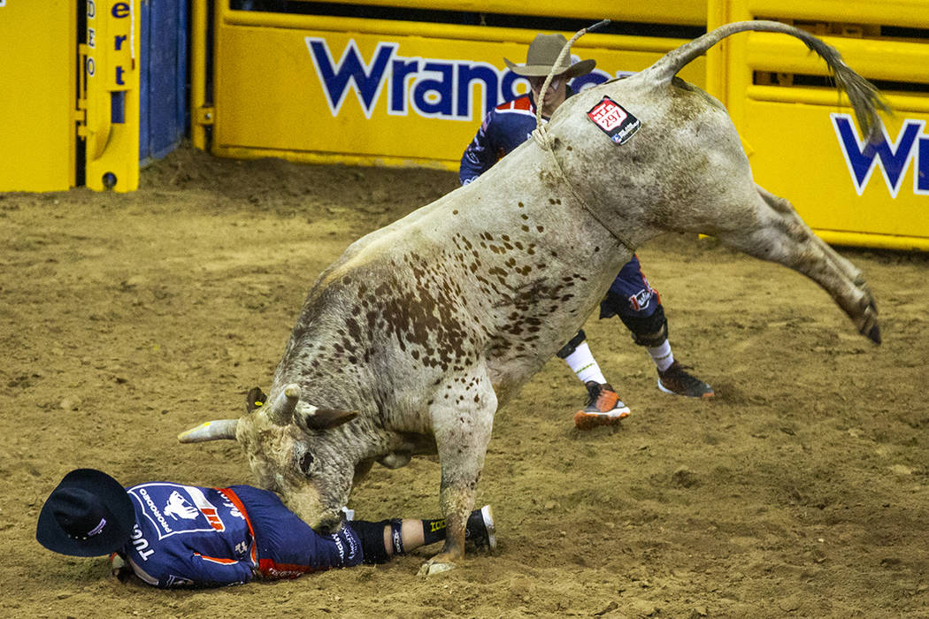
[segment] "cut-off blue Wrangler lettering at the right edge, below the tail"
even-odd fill
[[[881,140],[869,144],[858,136],[850,114],[833,112],[830,118],[859,196],[868,186],[874,169],[880,168],[890,197],[896,198],[909,164],[914,161],[913,194],[929,196],[929,135],[924,134],[925,121],[907,119],[896,140],[891,140],[882,125]]]

